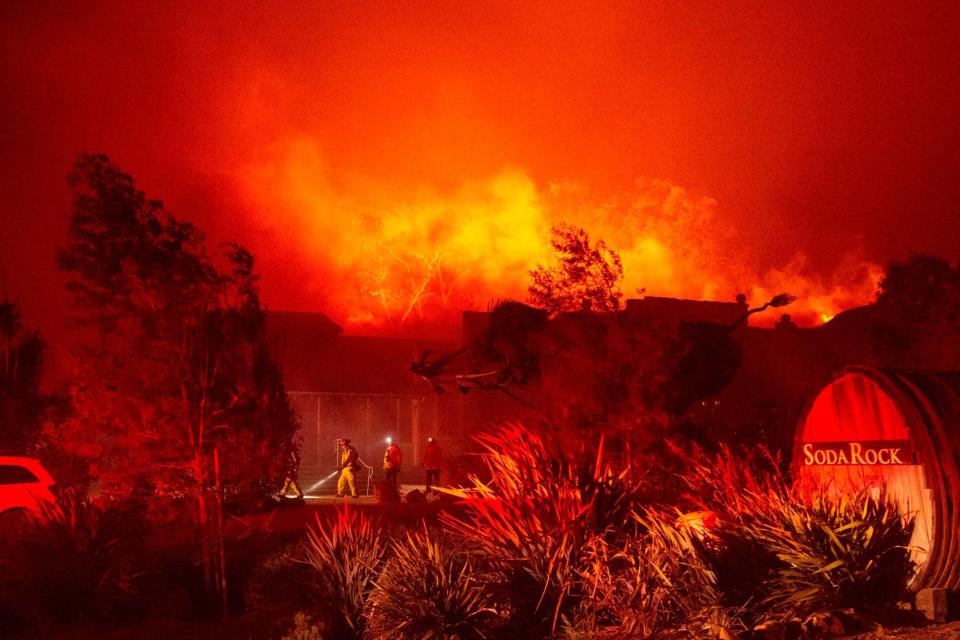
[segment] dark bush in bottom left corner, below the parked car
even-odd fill
[[[12,600],[41,620],[116,621],[136,613],[141,573],[122,515],[100,511],[72,491],[44,506],[8,551],[0,581]]]

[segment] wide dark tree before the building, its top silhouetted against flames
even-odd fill
[[[528,424],[585,456],[599,433],[631,461],[655,449],[697,400],[736,374],[742,352],[732,333],[749,316],[796,300],[778,294],[729,325],[630,316],[619,312],[616,252],[569,225],[553,233],[557,266],[531,272],[541,308],[501,301],[471,345],[433,359],[426,352],[410,369],[438,392],[448,384],[520,400],[537,411]],[[463,354],[466,368],[454,364]]]

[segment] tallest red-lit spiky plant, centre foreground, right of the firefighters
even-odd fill
[[[523,625],[555,629],[582,591],[579,573],[587,543],[630,526],[637,489],[603,465],[602,443],[593,468],[551,450],[520,425],[477,438],[490,483],[451,490],[466,514],[441,515],[498,574],[497,601]]]

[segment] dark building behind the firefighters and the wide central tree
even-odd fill
[[[741,302],[647,297],[628,300],[622,317],[637,330],[661,326],[733,327],[743,318]],[[789,460],[794,428],[806,402],[834,372],[869,364],[866,327],[870,307],[837,315],[817,328],[789,321],[774,328],[746,323],[732,328],[740,364],[729,383],[688,411],[690,422],[711,425],[714,435],[748,434],[783,452]],[[464,312],[460,344],[421,339],[345,336],[320,313],[271,312],[268,336],[283,367],[288,392],[302,424],[301,478],[309,488],[336,468],[336,439],[349,437],[364,462],[381,475],[388,436],[404,455],[401,480],[420,482],[426,439],[437,437],[451,463],[471,448],[470,435],[504,420],[523,420],[528,409],[504,394],[485,391],[438,394],[410,372],[430,350],[434,356],[469,344],[487,326],[489,314]],[[331,490],[330,486],[322,490]],[[321,489],[318,489],[321,490]]]

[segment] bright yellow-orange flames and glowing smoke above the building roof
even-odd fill
[[[717,203],[662,180],[598,194],[575,183],[540,187],[508,168],[448,192],[335,181],[316,144],[293,140],[243,172],[253,208],[304,265],[307,290],[348,331],[455,324],[463,309],[524,300],[528,272],[552,260],[550,228],[566,222],[616,249],[625,297],[650,295],[762,303],[787,291],[800,325],[870,302],[882,269],[851,254],[831,278],[802,255],[761,270],[738,251]],[[773,324],[779,314],[751,321]]]

